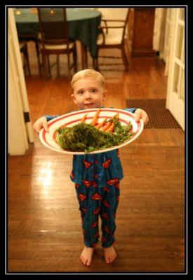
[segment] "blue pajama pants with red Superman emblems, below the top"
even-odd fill
[[[98,218],[101,218],[102,247],[109,247],[115,241],[115,216],[119,204],[119,181],[103,188],[75,184],[81,211],[84,244],[95,247],[98,244]]]

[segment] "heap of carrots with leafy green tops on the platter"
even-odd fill
[[[121,125],[119,114],[105,118],[98,123],[100,109],[96,111],[91,123],[85,123],[86,116],[72,127],[60,127],[56,130],[56,143],[64,150],[91,153],[124,144],[133,137],[131,122]]]

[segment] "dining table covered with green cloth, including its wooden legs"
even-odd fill
[[[57,13],[55,7],[51,11]],[[87,50],[91,57],[97,56],[97,38],[100,33],[98,26],[101,21],[101,12],[95,9],[66,8],[67,27],[69,38],[81,42],[81,66],[88,68]],[[36,43],[39,71],[41,73],[39,59],[39,18],[37,8],[14,8],[15,23],[18,31],[18,38]]]

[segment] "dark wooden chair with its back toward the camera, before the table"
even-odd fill
[[[44,76],[51,76],[51,64],[49,55],[57,55],[57,66],[59,76],[59,55],[67,55],[68,76],[71,78],[71,69],[76,72],[76,42],[68,37],[67,15],[65,8],[38,8],[40,48],[44,66]],[[73,62],[70,62],[70,55],[73,55]],[[47,62],[46,63],[46,57]],[[53,66],[53,65],[52,65]]]

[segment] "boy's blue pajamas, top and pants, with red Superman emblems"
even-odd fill
[[[124,109],[135,112],[135,108]],[[46,116],[52,120],[57,116]],[[115,216],[119,204],[119,181],[124,174],[119,150],[105,153],[74,155],[70,179],[75,183],[82,217],[84,243],[95,247],[98,243],[98,218],[102,221],[102,246],[114,242]]]

